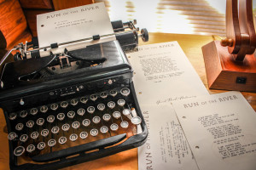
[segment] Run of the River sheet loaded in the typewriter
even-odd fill
[[[39,47],[52,43],[71,42],[94,35],[113,34],[104,3],[93,3],[76,8],[67,8],[47,14],[37,15]],[[99,43],[114,40],[115,36],[103,37]]]

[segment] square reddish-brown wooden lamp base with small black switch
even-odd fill
[[[213,41],[202,47],[209,88],[256,92],[256,57],[235,61],[227,47]]]

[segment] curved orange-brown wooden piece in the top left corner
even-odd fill
[[[0,0],[0,31],[6,46],[14,42],[26,29],[26,18],[18,0]],[[2,39],[1,39],[2,42]]]

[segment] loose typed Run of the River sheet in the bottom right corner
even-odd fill
[[[256,113],[241,93],[173,102],[201,170],[256,169]]]

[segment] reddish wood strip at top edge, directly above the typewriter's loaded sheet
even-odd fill
[[[54,4],[55,10],[61,10],[64,8],[73,8],[94,3],[94,0],[53,0],[52,2]]]

